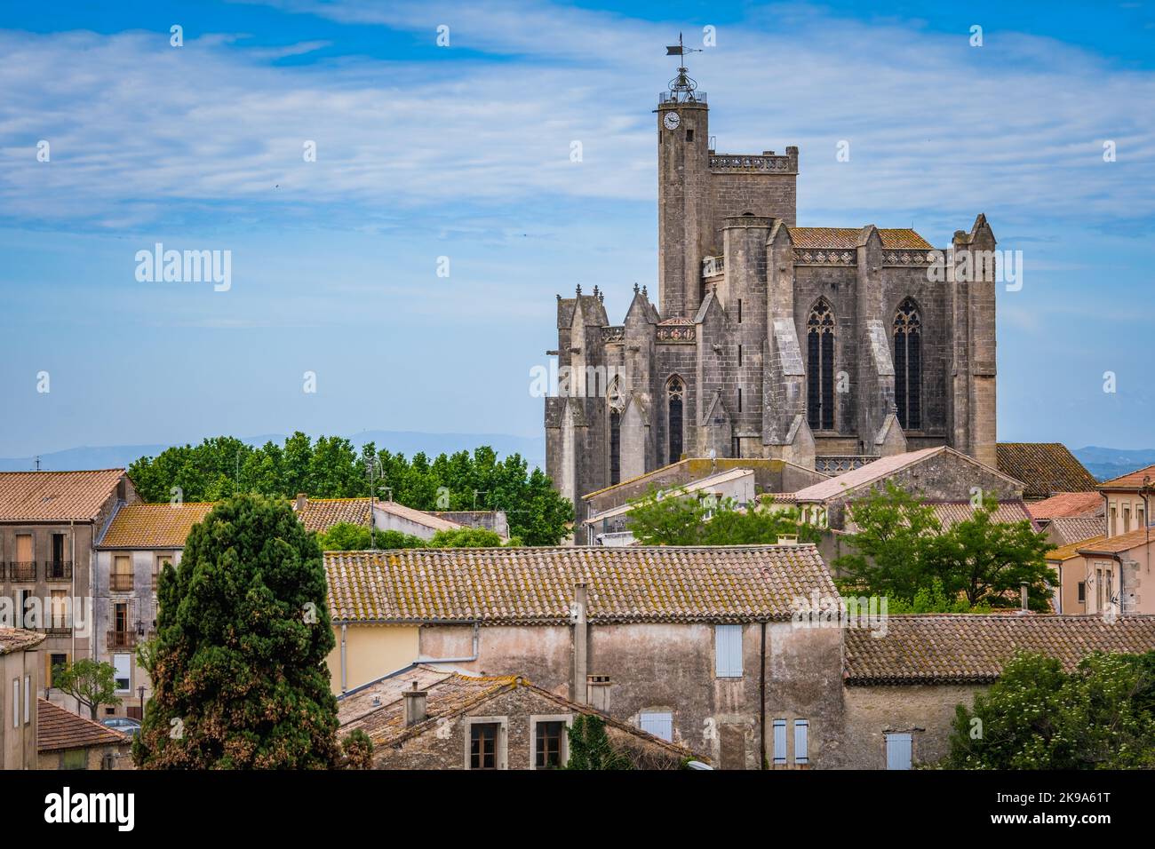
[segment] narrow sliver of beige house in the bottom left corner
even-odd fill
[[[36,768],[36,698],[45,635],[0,627],[0,769]]]

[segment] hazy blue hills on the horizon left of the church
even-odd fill
[[[273,441],[284,444],[284,435],[267,433],[260,437],[248,437],[244,441],[249,445],[264,445]],[[417,452],[425,452],[433,457],[438,454],[459,450],[472,450],[482,445],[491,446],[499,455],[521,454],[529,463],[545,467],[545,439],[535,437],[512,437],[506,433],[417,433],[413,431],[364,431],[349,437],[349,441],[360,448],[365,442],[373,442],[378,450],[388,449],[394,454],[411,457]],[[127,468],[137,457],[156,456],[167,445],[112,445],[99,447],[67,448],[40,455],[40,469],[44,471],[66,471],[69,469],[121,469]],[[36,457],[2,457],[0,471],[31,471],[36,468]]]

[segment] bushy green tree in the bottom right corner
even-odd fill
[[[1155,651],[1093,654],[1066,672],[1020,654],[973,709],[956,708],[953,769],[1155,768]]]

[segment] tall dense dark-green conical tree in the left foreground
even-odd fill
[[[158,599],[137,766],[340,765],[321,549],[286,501],[218,504],[165,566]]]

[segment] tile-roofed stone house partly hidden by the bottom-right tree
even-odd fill
[[[1155,617],[892,616],[886,635],[845,632],[845,760],[908,769],[949,751],[955,706],[974,702],[1016,651],[1074,669],[1093,651],[1155,649]]]

